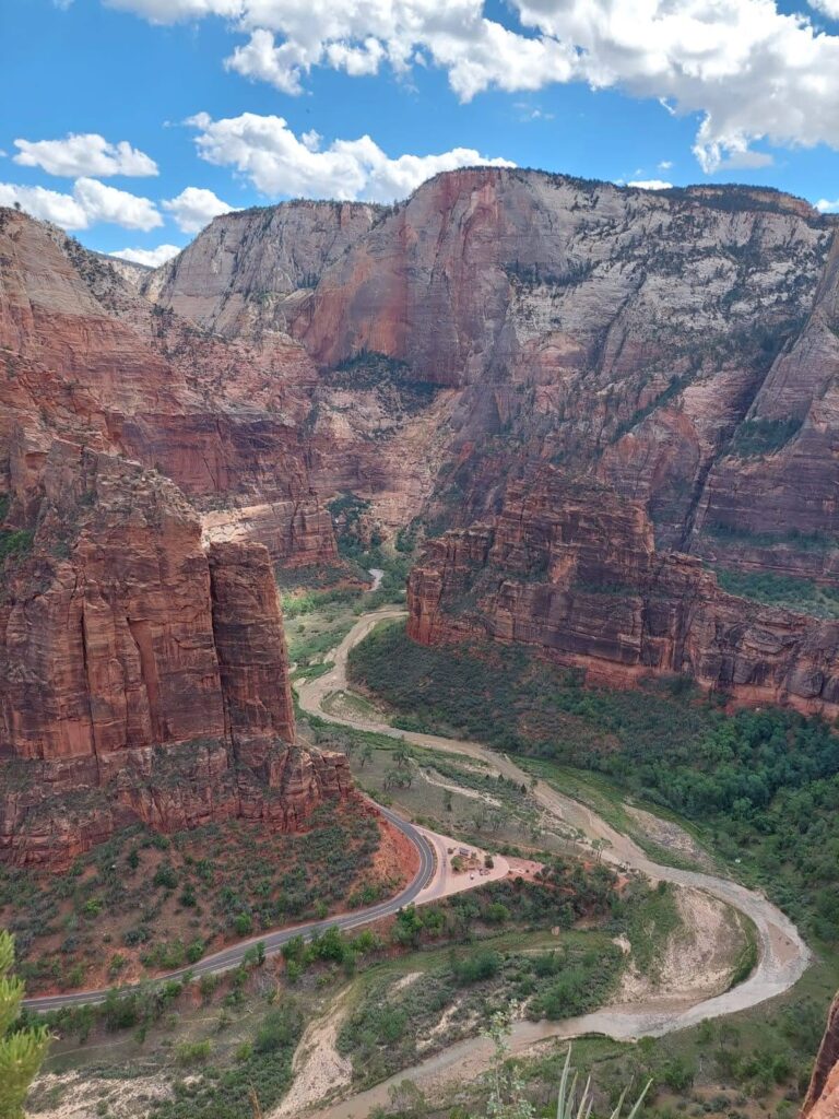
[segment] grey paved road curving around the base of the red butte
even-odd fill
[[[415,828],[413,824],[402,819],[402,817],[397,816],[396,812],[392,812],[390,809],[383,808],[380,805],[377,805],[376,808],[387,820],[390,821],[390,824],[394,825],[394,827],[398,828],[403,835],[407,836],[420,854],[418,871],[408,885],[405,886],[405,888],[395,897],[379,902],[377,905],[369,905],[367,909],[355,910],[351,913],[341,913],[337,916],[326,918],[323,921],[310,921],[305,924],[296,924],[290,928],[277,929],[274,932],[266,932],[261,937],[252,937],[249,940],[243,940],[237,944],[232,944],[229,948],[223,948],[218,952],[213,952],[211,956],[205,956],[197,963],[192,963],[189,967],[178,968],[177,971],[169,971],[166,975],[154,976],[154,978],[149,979],[148,982],[158,984],[164,982],[168,979],[182,979],[187,974],[192,976],[202,976],[218,971],[229,971],[232,968],[238,967],[248,948],[260,942],[265,944],[266,953],[272,956],[275,952],[279,952],[283,944],[286,944],[293,937],[303,937],[308,940],[315,933],[326,932],[327,929],[336,924],[339,929],[347,932],[351,929],[358,929],[360,925],[370,924],[373,921],[378,921],[379,918],[389,916],[390,914],[396,913],[397,910],[402,909],[403,905],[408,905],[411,902],[415,901],[417,895],[428,885],[428,882],[434,875],[434,847],[423,831]],[[148,982],[143,986],[147,986]],[[120,987],[120,994],[128,994],[132,990],[136,990],[140,986],[140,984],[132,984],[131,986]],[[82,1006],[83,1004],[88,1003],[104,1003],[110,989],[111,988],[104,988],[102,990],[79,990],[66,995],[43,995],[38,998],[25,999],[23,1006],[28,1007],[30,1010],[57,1010],[65,1006]]]

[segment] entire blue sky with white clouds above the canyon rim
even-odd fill
[[[140,254],[225,207],[390,200],[478,158],[835,203],[835,17],[839,0],[0,0],[0,203]]]

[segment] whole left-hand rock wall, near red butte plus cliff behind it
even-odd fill
[[[198,331],[2,210],[0,360],[0,858],[347,797],[294,744],[271,562],[336,555],[300,347]]]

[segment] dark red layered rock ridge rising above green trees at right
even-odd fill
[[[432,542],[408,584],[408,632],[529,645],[625,686],[687,673],[746,703],[839,713],[839,622],[724,593],[699,560],[656,549],[642,505],[545,468],[488,525]]]

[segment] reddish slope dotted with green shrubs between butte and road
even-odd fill
[[[374,867],[379,845],[356,806],[324,806],[301,835],[241,820],[171,838],[134,827],[66,875],[0,868],[0,925],[32,993],[124,982],[386,896],[396,883]]]

